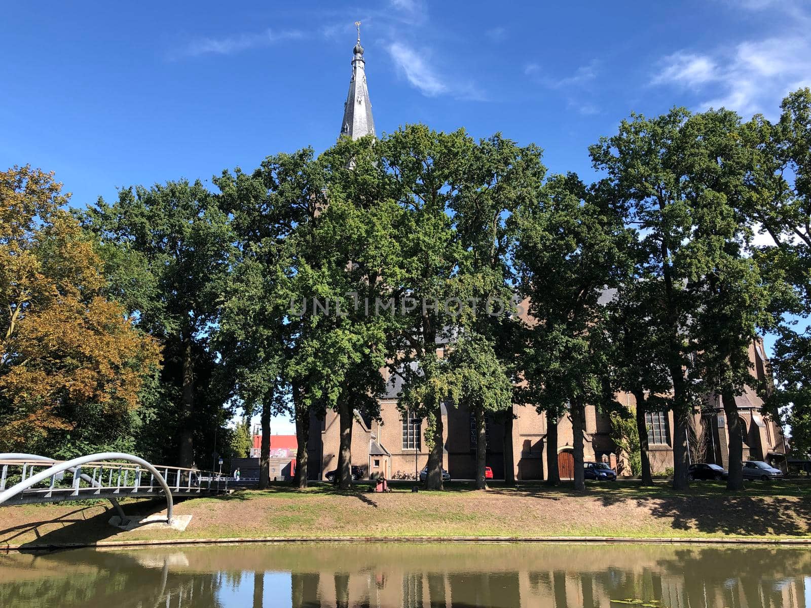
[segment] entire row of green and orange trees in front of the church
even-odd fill
[[[571,419],[578,489],[586,406],[616,412],[645,482],[646,413],[672,411],[678,489],[691,421],[723,409],[740,489],[744,393],[811,449],[809,149],[800,89],[779,122],[632,114],[590,147],[593,183],[547,176],[534,144],[425,125],[72,215],[51,175],[15,167],[0,173],[0,448],[115,444],[202,467],[245,452],[259,414],[266,486],[287,413],[304,487],[311,421],[334,411],[346,488],[354,421],[380,417],[393,377],[401,414],[423,420],[431,489],[448,406],[475,419],[483,488],[487,421],[504,422],[508,478],[518,404],[547,417],[551,481]],[[767,332],[776,384],[750,361]]]

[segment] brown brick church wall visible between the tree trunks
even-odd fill
[[[756,345],[750,348],[750,358],[755,362],[753,373],[760,378],[764,374],[764,366]],[[760,366],[757,366],[758,362]],[[764,379],[766,381],[766,379]],[[617,400],[633,408],[633,396],[620,393]],[[780,427],[767,417],[762,417],[763,426],[753,422],[753,413],[760,411],[762,400],[752,390],[747,390],[740,398],[739,412],[744,418],[748,430],[749,446],[744,446],[744,458],[753,456],[766,459],[772,453],[784,452],[784,439]],[[547,476],[546,462],[546,416],[537,413],[530,406],[514,406],[516,419],[513,422],[513,469],[517,479],[543,479]],[[709,411],[709,413],[708,413]],[[711,445],[707,451],[706,460],[714,460],[724,467],[728,466],[728,438],[726,425],[719,426],[719,417],[723,418],[723,410],[713,413],[704,412],[705,421],[702,422],[702,413],[695,413],[696,428],[703,427],[711,430]],[[397,410],[397,400],[384,399],[380,401],[380,422],[371,422],[367,428],[363,422],[356,421],[352,434],[352,464],[363,468],[365,474],[370,473],[369,447],[371,439],[375,439],[381,447],[391,453],[390,458],[381,459],[388,470],[388,477],[396,473],[414,475],[414,458],[416,456],[416,469],[422,470],[427,465],[427,447],[425,445],[424,431],[421,428],[422,440],[418,451],[402,447],[402,420]],[[448,406],[444,422],[444,469],[448,470],[453,478],[470,479],[475,473],[475,446],[470,437],[470,413],[464,408]],[[672,430],[673,414],[667,413],[667,444],[650,445],[650,464],[654,473],[663,473],[673,466]],[[496,478],[503,477],[504,472],[504,426],[495,420],[488,424],[489,443],[487,465],[493,469]],[[340,430],[337,413],[328,412],[323,420],[313,419],[311,422],[311,439],[308,451],[311,458],[311,478],[323,478],[324,473],[337,467],[337,454],[340,439]],[[561,417],[558,424],[558,451],[569,450],[573,446],[572,423],[569,416]],[[714,450],[712,449],[714,447]],[[622,463],[625,456],[617,454],[616,445],[611,440],[611,421],[603,413],[599,413],[592,406],[586,407],[586,435],[584,437],[584,458],[586,460],[601,460],[605,454],[615,454]],[[714,452],[714,453],[713,453]],[[374,457],[374,456],[372,456]],[[373,473],[373,472],[372,472]],[[629,474],[629,467],[624,467],[621,474]]]

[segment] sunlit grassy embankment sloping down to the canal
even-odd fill
[[[159,500],[124,503],[133,514],[164,508]],[[740,495],[712,482],[681,493],[667,482],[591,484],[585,493],[565,485],[476,491],[451,484],[416,494],[403,486],[384,495],[367,486],[274,486],[184,500],[175,512],[193,516],[185,532],[117,533],[101,501],[2,507],[0,547],[238,537],[811,537],[811,484],[752,482]]]

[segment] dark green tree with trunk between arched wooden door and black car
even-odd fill
[[[539,410],[568,406],[574,486],[583,490],[586,405],[611,402],[611,342],[600,298],[627,280],[633,233],[620,210],[574,174],[552,177],[543,198],[519,205],[514,221],[519,289],[529,298],[532,319],[526,394]]]

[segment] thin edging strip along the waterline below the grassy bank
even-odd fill
[[[385,543],[429,543],[429,542],[523,542],[523,543],[568,543],[568,542],[608,542],[648,544],[691,544],[691,545],[771,545],[771,546],[811,546],[811,537],[803,538],[762,538],[762,537],[502,537],[502,536],[454,536],[454,537],[234,537],[234,538],[164,538],[142,541],[96,541],[96,542],[49,542],[22,545],[0,545],[0,550],[58,550],[98,548],[126,548],[138,546],[183,546],[183,545],[234,545],[244,543],[329,543],[329,542],[385,542]]]

